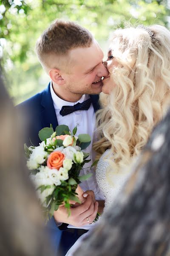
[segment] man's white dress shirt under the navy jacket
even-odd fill
[[[88,180],[85,180],[80,184],[80,187],[83,191],[86,190],[93,190],[95,194],[96,200],[105,200],[104,195],[100,191],[97,182],[96,182],[96,175],[94,172],[94,168],[91,168],[92,163],[95,160],[95,153],[92,149],[92,145],[95,141],[95,122],[96,122],[96,116],[94,112],[93,105],[91,104],[90,108],[87,110],[79,110],[74,111],[71,114],[68,114],[66,116],[60,115],[59,111],[61,110],[62,106],[74,106],[78,102],[82,103],[85,100],[89,99],[90,96],[87,94],[84,94],[81,99],[77,102],[67,102],[63,99],[60,99],[53,90],[52,81],[50,84],[50,90],[51,90],[51,97],[54,104],[54,109],[57,116],[58,125],[68,125],[69,129],[73,131],[74,127],[77,126],[77,133],[76,136],[79,134],[89,134],[91,136],[91,144],[83,150],[86,153],[90,153],[90,156],[88,159],[91,159],[89,163],[85,163],[83,166],[83,169],[80,171],[80,176],[85,175],[87,173],[92,173],[93,175],[88,178]],[[83,226],[83,229],[90,229],[91,225]],[[68,227],[75,228],[72,225],[68,225]],[[81,227],[79,227],[81,228]]]

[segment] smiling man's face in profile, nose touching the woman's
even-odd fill
[[[70,72],[63,74],[65,89],[74,94],[99,94],[102,91],[102,76],[108,76],[103,66],[103,52],[96,41],[91,47],[76,48],[68,56]]]

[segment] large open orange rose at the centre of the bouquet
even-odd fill
[[[64,159],[65,159],[65,155],[62,154],[62,152],[54,151],[48,157],[47,166],[50,169],[59,170],[59,168],[62,167],[62,163]]]

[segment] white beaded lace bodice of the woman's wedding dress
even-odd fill
[[[105,196],[105,209],[107,209],[111,202],[115,200],[125,181],[130,176],[130,172],[127,170],[122,170],[118,173],[113,170],[111,175],[106,175],[106,169],[109,165],[107,161],[109,151],[110,149],[106,150],[105,153],[102,154],[96,168],[96,180],[99,188]]]

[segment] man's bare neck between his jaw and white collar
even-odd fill
[[[57,84],[52,83],[52,87],[53,87],[54,93],[60,99],[63,99],[67,102],[77,102],[82,97],[82,94],[71,93],[71,92],[68,92],[65,90],[64,91],[60,90],[60,88]]]

